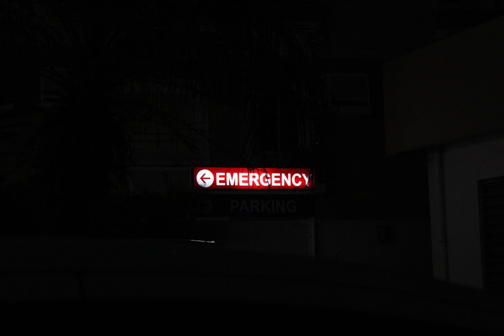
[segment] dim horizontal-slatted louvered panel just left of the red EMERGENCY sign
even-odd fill
[[[188,189],[191,169],[188,167],[134,167],[133,192],[166,196],[169,190]]]

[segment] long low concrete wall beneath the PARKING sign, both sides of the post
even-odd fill
[[[313,256],[432,276],[428,219],[200,218],[193,232],[236,251]]]

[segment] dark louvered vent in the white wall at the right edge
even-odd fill
[[[479,181],[485,289],[504,293],[504,177]]]

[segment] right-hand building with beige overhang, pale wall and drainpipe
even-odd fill
[[[499,17],[384,65],[387,153],[429,148],[433,275],[476,288],[501,264],[485,260],[478,185],[504,174],[503,32]]]

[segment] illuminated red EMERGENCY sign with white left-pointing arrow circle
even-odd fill
[[[308,168],[195,167],[194,185],[206,189],[313,189]]]

